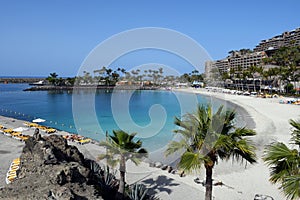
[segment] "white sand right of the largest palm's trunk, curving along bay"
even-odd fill
[[[214,187],[213,195],[218,199],[253,199],[255,194],[270,195],[274,199],[285,199],[268,181],[269,170],[261,160],[263,148],[273,141],[288,144],[290,139],[289,119],[300,119],[300,106],[279,104],[279,99],[262,99],[249,96],[211,93],[203,89],[179,89],[227,100],[243,107],[255,122],[257,135],[253,138],[258,150],[258,163],[244,169],[244,165],[220,162],[214,169],[214,178],[234,189]],[[204,177],[203,177],[204,178]]]

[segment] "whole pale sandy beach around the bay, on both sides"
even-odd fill
[[[290,138],[289,119],[300,119],[300,106],[279,104],[279,99],[261,99],[249,96],[225,95],[210,93],[202,89],[177,89],[176,91],[202,93],[211,97],[230,101],[245,109],[246,116],[253,120],[257,135],[253,138],[258,148],[258,163],[247,165],[228,162],[219,162],[214,168],[213,177],[225,185],[215,186],[213,196],[215,199],[254,199],[255,194],[270,195],[276,200],[285,199],[276,185],[269,179],[268,168],[261,160],[264,145],[272,141],[288,143]],[[24,121],[0,116],[0,124],[6,128],[24,127]],[[25,131],[24,134],[32,135],[34,129]],[[58,134],[67,134],[60,131]],[[89,143],[78,145],[80,151],[87,157],[96,159],[97,155],[104,152],[97,144]],[[0,187],[5,185],[5,174],[11,161],[21,154],[24,143],[0,134]],[[162,155],[161,155],[162,156]],[[103,164],[103,163],[102,163]],[[203,170],[204,172],[204,170]],[[201,180],[203,174],[197,175]],[[149,167],[143,162],[139,166],[128,163],[127,183],[143,182],[161,199],[204,199],[205,188],[194,182],[196,175],[180,177],[170,174],[159,168]]]

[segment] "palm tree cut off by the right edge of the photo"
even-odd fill
[[[300,198],[300,122],[290,120],[293,127],[291,144],[298,145],[290,149],[284,143],[277,142],[265,150],[264,161],[270,166],[270,181],[280,183],[279,189],[287,199]]]

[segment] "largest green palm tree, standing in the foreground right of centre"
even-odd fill
[[[188,113],[181,120],[175,118],[175,124],[180,129],[175,130],[181,140],[172,141],[166,150],[166,155],[183,151],[178,167],[185,172],[199,170],[202,165],[206,169],[205,199],[212,199],[212,173],[218,159],[245,159],[249,163],[256,162],[255,147],[247,136],[255,135],[246,127],[237,128],[234,125],[235,112],[223,111],[219,107],[213,114],[209,105],[198,105],[195,113]]]

